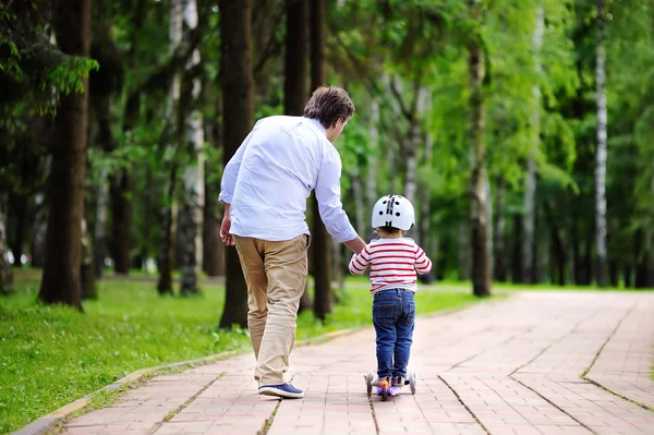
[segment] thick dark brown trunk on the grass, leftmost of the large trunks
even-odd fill
[[[53,15],[61,51],[88,57],[90,0],[58,2]],[[88,88],[87,78],[84,80],[84,88]],[[85,90],[82,94],[62,96],[55,122],[50,213],[38,298],[44,303],[62,302],[82,311],[80,240],[84,216],[88,93]]]

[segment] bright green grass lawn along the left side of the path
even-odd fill
[[[98,282],[99,300],[85,314],[35,302],[39,273],[15,274],[16,293],[0,298],[0,433],[9,433],[140,368],[249,350],[247,331],[218,330],[225,293],[206,285],[198,298],[161,298],[154,282]],[[349,282],[349,281],[348,281]],[[298,340],[371,325],[363,280],[348,283],[326,325],[298,319]],[[419,313],[474,302],[468,293],[423,291]],[[111,401],[107,392],[94,399]]]

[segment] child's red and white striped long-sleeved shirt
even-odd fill
[[[371,293],[385,289],[415,291],[415,271],[426,275],[432,261],[413,239],[378,239],[350,261],[350,273],[362,275],[371,266]]]

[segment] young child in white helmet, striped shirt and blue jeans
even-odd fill
[[[373,324],[377,334],[377,376],[386,378],[393,396],[404,385],[415,319],[415,271],[426,275],[432,262],[405,232],[415,223],[411,202],[400,195],[383,196],[373,209],[379,239],[350,261],[350,271],[362,275],[371,266]],[[377,387],[382,395],[382,387]]]

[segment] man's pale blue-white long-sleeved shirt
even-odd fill
[[[320,218],[339,242],[356,238],[340,201],[340,155],[319,121],[259,120],[225,167],[219,200],[230,204],[230,232],[268,241],[308,234],[306,200],[316,191]]]

